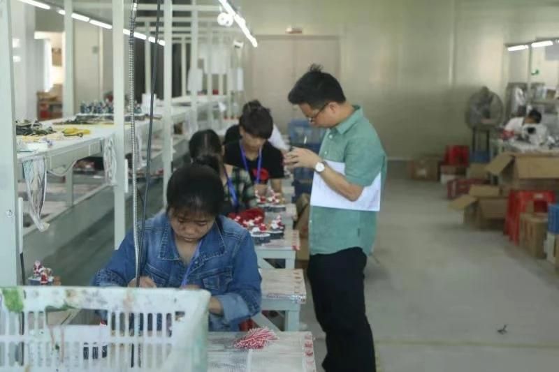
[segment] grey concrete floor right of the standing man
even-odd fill
[[[500,232],[464,228],[439,184],[392,170],[365,272],[382,371],[559,371],[559,273]],[[312,299],[302,318],[320,365]]]

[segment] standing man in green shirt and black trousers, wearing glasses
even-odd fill
[[[311,124],[328,130],[319,154],[293,149],[286,154],[286,165],[313,169],[314,177],[351,202],[377,177],[384,183],[386,154],[377,132],[361,107],[347,102],[335,77],[311,66],[289,93],[289,102],[299,105]],[[328,162],[343,163],[343,173]],[[377,235],[377,211],[350,207],[311,202],[308,276],[314,312],[326,333],[328,354],[322,366],[327,372],[376,371],[363,269]]]

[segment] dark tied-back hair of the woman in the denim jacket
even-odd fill
[[[218,216],[224,202],[219,174],[207,165],[184,165],[167,184],[167,212]]]

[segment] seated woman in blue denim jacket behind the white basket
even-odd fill
[[[224,188],[214,170],[187,165],[170,177],[167,210],[146,221],[140,287],[201,288],[212,294],[210,331],[237,331],[260,311],[261,277],[247,230],[219,216]],[[129,232],[93,285],[136,286]]]

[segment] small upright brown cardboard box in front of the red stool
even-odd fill
[[[523,213],[520,216],[520,246],[535,258],[546,258],[547,214]]]

